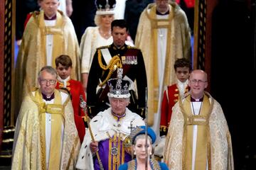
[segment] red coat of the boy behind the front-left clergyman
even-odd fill
[[[58,81],[56,89],[63,89],[63,88],[64,88],[64,84]],[[80,95],[82,95],[82,98],[84,98],[85,100],[85,91],[82,88],[81,82],[73,79],[70,79],[69,81],[67,81],[67,86],[65,89],[68,89],[68,91],[70,92],[72,106],[74,109],[75,126],[78,130],[80,142],[82,143],[82,140],[85,136],[85,123],[82,117],[85,116],[85,113],[80,107]]]

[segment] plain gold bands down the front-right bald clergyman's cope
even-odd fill
[[[195,169],[206,169],[207,162],[208,165],[210,165],[210,159],[208,160],[208,158],[210,158],[209,117],[212,111],[213,102],[210,105],[208,97],[204,95],[200,113],[198,115],[193,115],[193,111],[191,111],[191,96],[187,96],[183,103],[181,102],[181,98],[179,100],[184,117],[184,169],[192,169],[193,125],[198,125]]]

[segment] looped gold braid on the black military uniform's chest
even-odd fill
[[[122,68],[122,62],[119,58],[118,55],[115,55],[114,57],[112,57],[112,59],[110,60],[110,64],[108,64],[107,66],[102,64],[102,54],[100,52],[100,50],[97,50],[98,53],[98,62],[100,64],[100,68],[102,68],[103,70],[107,70],[110,69],[110,72],[107,74],[107,78],[102,81],[102,83],[99,86],[103,86],[108,79],[110,79],[111,75],[113,74],[113,72],[117,69],[117,68]],[[114,68],[114,65],[117,66],[117,68]]]

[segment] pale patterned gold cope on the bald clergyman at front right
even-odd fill
[[[190,98],[190,96],[187,98]],[[198,162],[198,159],[202,159],[202,164],[206,164],[207,160],[208,169],[234,169],[231,137],[223,110],[218,101],[215,101],[214,98],[210,96],[210,94],[206,93],[205,98],[208,98],[209,103],[206,103],[206,106],[202,106],[205,108],[202,108],[204,111],[202,111],[201,117],[198,115],[196,118],[189,118],[188,116],[188,121],[186,122],[184,121],[184,114],[188,112],[189,115],[190,113],[186,108],[183,110],[183,108],[180,106],[186,105],[186,102],[188,101],[186,101],[186,99],[183,101],[178,101],[178,104],[176,104],[173,108],[171,123],[169,125],[168,134],[166,136],[166,144],[164,149],[164,162],[167,164],[167,166],[169,166],[169,169],[171,170],[191,169],[191,165],[188,165],[190,164],[188,162],[191,161],[187,160],[191,158],[189,158],[187,155],[189,152],[188,149],[186,149],[189,146],[185,139],[192,136],[188,135],[190,132],[189,130],[186,132],[185,127],[188,124],[198,125],[198,127],[201,125],[204,126],[207,124],[207,122],[208,129],[207,126],[202,129],[198,128],[198,132],[201,133],[201,135],[205,134],[205,136],[201,139],[198,138],[198,142],[201,142],[201,144],[196,148],[196,152],[204,152],[205,154],[202,154],[201,156],[207,156],[207,158],[200,158],[200,155],[196,155],[196,162]],[[204,101],[205,98],[203,99]],[[206,120],[206,123],[202,123],[204,120]],[[206,149],[208,153],[207,155]],[[196,169],[201,168],[196,165]]]

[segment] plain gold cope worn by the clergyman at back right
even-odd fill
[[[174,62],[178,58],[191,57],[191,43],[188,22],[185,13],[179,10],[179,7],[174,4],[169,4],[170,13],[167,19],[156,18],[156,4],[149,4],[142,12],[135,46],[142,50],[146,77],[148,84],[148,124],[153,125],[154,113],[157,111],[159,95],[164,93],[159,91],[159,86],[168,86],[176,82],[174,72]],[[157,73],[158,56],[157,56],[157,28],[167,28],[166,41],[166,61],[164,69],[164,82],[159,82]]]

